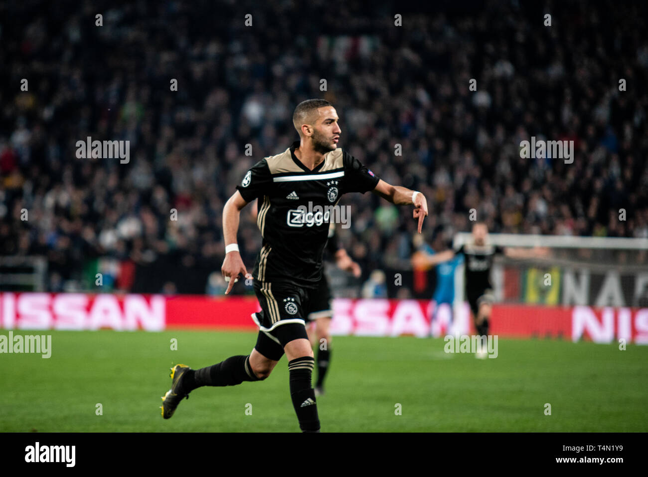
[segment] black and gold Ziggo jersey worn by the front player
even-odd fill
[[[312,171],[295,156],[295,141],[286,151],[253,165],[237,190],[243,199],[259,199],[257,225],[262,247],[254,278],[288,280],[317,286],[330,221],[339,221],[340,196],[375,189],[378,177],[338,148]]]

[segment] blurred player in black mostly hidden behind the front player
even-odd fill
[[[335,259],[335,263],[339,269],[351,273],[355,278],[360,278],[362,274],[360,265],[351,260],[347,251],[340,247],[334,223],[329,225],[329,241],[327,241],[325,251]],[[306,323],[308,339],[310,339],[312,345],[318,347],[316,360],[318,363],[318,379],[315,384],[315,395],[321,396],[324,394],[324,378],[326,377],[327,371],[329,371],[330,365],[330,321],[333,317],[331,306],[332,297],[326,273],[322,273],[318,293],[315,294],[315,297],[316,299],[310,304],[310,312],[308,313]]]

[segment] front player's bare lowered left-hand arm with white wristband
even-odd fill
[[[223,274],[225,281],[229,282],[225,294],[227,295],[239,274],[246,278],[252,278],[248,273],[243,260],[238,252],[237,232],[238,221],[240,220],[241,210],[248,205],[248,202],[243,199],[239,191],[236,191],[232,197],[225,204],[223,209],[223,236],[225,238],[225,260],[220,271]]]

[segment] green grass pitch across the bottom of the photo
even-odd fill
[[[172,364],[198,368],[248,354],[255,333],[14,333],[51,334],[52,356],[0,354],[0,431],[299,430],[285,357],[263,382],[196,389],[172,419],[161,417]],[[178,350],[170,349],[172,338]],[[648,430],[648,347],[500,339],[498,358],[476,360],[472,354],[446,354],[444,344],[415,337],[334,337],[327,394],[318,398],[322,431]],[[551,415],[545,415],[546,403]]]

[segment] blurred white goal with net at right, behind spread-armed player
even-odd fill
[[[469,233],[456,234],[454,248],[469,241]],[[648,344],[648,239],[489,234],[487,241],[542,251],[494,258],[492,332]],[[472,330],[464,276],[462,264],[452,311],[439,306],[434,336]]]

